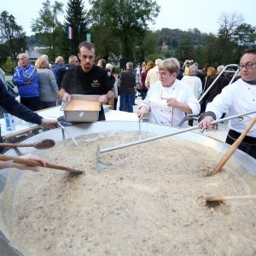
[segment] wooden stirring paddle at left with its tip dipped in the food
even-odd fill
[[[49,163],[47,163],[46,166],[42,166],[42,164],[37,160],[27,160],[27,159],[23,159],[23,158],[20,158],[20,157],[15,157],[15,156],[0,155],[0,160],[2,160],[2,161],[12,161],[14,163],[22,164],[22,165],[26,165],[26,166],[39,166],[39,167],[46,167],[46,168],[49,168],[49,169],[62,170],[62,171],[67,171],[71,174],[81,174],[81,173],[83,173],[83,171],[80,171],[80,170],[76,170],[76,169],[69,168],[69,167],[66,167],[66,166],[56,166],[56,165],[49,164]]]

